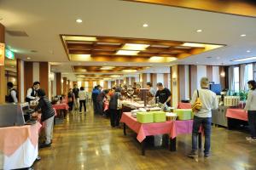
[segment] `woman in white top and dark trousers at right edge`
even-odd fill
[[[250,91],[248,92],[247,104],[244,110],[247,111],[251,136],[246,139],[256,141],[256,82],[251,80],[247,84]]]

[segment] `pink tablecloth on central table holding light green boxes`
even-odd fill
[[[120,122],[124,122],[137,133],[137,140],[139,142],[143,142],[146,136],[157,134],[169,134],[170,138],[174,139],[178,134],[192,133],[193,126],[193,120],[140,123],[129,112],[123,113]]]

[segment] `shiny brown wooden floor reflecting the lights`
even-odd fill
[[[140,144],[131,130],[112,128],[108,119],[94,116],[91,107],[86,116],[73,113],[55,125],[53,144],[39,150],[40,169],[172,169],[172,170],[255,170],[256,142],[245,140],[247,133],[212,128],[212,156],[190,159],[191,136],[177,138],[177,152],[149,148],[141,156]]]

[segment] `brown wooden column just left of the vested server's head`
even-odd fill
[[[33,63],[24,62],[24,96],[26,98],[26,91],[33,86]]]

